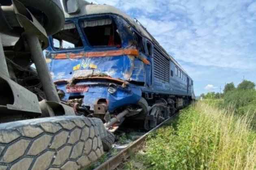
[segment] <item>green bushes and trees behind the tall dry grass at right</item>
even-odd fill
[[[256,130],[256,90],[255,83],[244,80],[237,87],[234,83],[225,85],[223,93],[208,92],[200,95],[204,102],[219,108],[229,108],[234,115],[250,118],[252,127]]]

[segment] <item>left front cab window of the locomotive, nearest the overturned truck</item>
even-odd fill
[[[83,47],[82,39],[73,22],[65,23],[64,28],[52,36],[52,43],[57,50]]]

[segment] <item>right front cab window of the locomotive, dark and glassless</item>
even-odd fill
[[[80,25],[91,46],[121,46],[117,26],[111,18],[81,21]]]

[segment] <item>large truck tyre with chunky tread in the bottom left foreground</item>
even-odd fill
[[[87,168],[103,154],[94,121],[80,116],[0,124],[0,169]]]

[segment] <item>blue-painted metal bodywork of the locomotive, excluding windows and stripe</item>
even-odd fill
[[[87,19],[100,19],[102,17],[111,17],[117,25],[119,36],[121,38],[121,47],[115,46],[101,46],[101,47],[91,47],[89,45],[87,38],[79,25],[80,20]],[[94,51],[107,51],[116,49],[127,49],[135,47],[135,41],[133,37],[133,32],[141,35],[135,28],[130,26],[127,20],[124,18],[109,14],[109,15],[93,15],[93,16],[83,16],[68,19],[67,22],[74,22],[78,32],[82,38],[83,47],[77,49],[60,49],[56,50],[53,47],[52,38],[50,37],[50,46],[48,51],[50,51],[51,56],[53,56],[52,61],[48,64],[51,74],[53,75],[54,81],[59,81],[62,79],[71,80],[74,74],[78,70],[92,70],[92,74],[109,76],[114,79],[121,79],[123,81],[128,81],[130,84],[126,87],[118,86],[115,94],[110,94],[107,91],[108,83],[113,83],[110,80],[84,80],[77,83],[77,85],[88,85],[89,90],[84,93],[66,93],[63,100],[67,101],[69,98],[74,98],[76,96],[84,96],[83,104],[85,106],[90,106],[93,110],[93,105],[97,104],[99,99],[106,99],[108,101],[108,110],[113,112],[117,108],[122,106],[128,106],[135,104],[139,101],[143,92],[159,93],[159,94],[172,94],[179,96],[193,96],[193,85],[188,84],[184,79],[175,75],[175,62],[169,60],[169,71],[173,71],[173,76],[169,76],[169,82],[165,82],[161,79],[154,77],[154,47],[159,47],[156,42],[152,42],[145,37],[141,37],[143,45],[150,42],[152,45],[152,55],[149,56],[145,54],[145,51],[140,51],[140,55],[144,56],[150,65],[144,64],[141,60],[131,55],[119,55],[119,56],[108,56],[108,57],[81,57],[81,58],[68,58],[68,59],[54,59],[54,56],[58,53],[72,53],[81,54],[85,52]],[[146,49],[146,45],[144,47]],[[168,56],[163,52],[167,58]],[[93,64],[94,68],[90,65]],[[177,66],[180,68],[180,66]],[[187,75],[188,76],[188,75]],[[189,78],[190,79],[190,78]],[[191,79],[190,79],[191,81]],[[58,88],[66,91],[66,84],[59,84]]]

